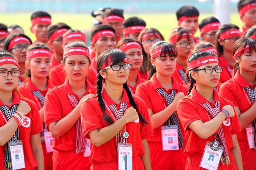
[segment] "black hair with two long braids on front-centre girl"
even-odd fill
[[[100,70],[101,70],[101,66],[105,63],[107,64],[107,58],[109,58],[109,56],[112,57],[112,64],[111,65],[117,65],[118,63],[121,63],[125,58],[127,58],[127,55],[119,50],[119,49],[109,49],[104,51],[103,53],[100,54],[99,59],[97,61],[97,100],[98,103],[100,105],[100,109],[103,112],[103,118],[104,121],[106,121],[109,124],[114,123],[114,121],[112,120],[112,118],[110,116],[108,116],[106,114],[106,110],[105,110],[105,104],[102,98],[102,81],[104,80],[102,78],[102,76],[100,75]],[[135,103],[133,96],[131,95],[131,92],[128,88],[127,83],[123,84],[123,88],[125,89],[127,95],[128,95],[128,99],[129,102],[131,103],[132,107],[138,112],[138,117],[140,119],[140,121],[142,122],[143,125],[148,124],[148,122],[144,119],[144,117],[142,116],[142,114],[140,113],[140,111],[138,110],[137,104]]]

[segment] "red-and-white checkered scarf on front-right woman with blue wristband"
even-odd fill
[[[220,101],[216,101],[214,103],[214,108],[211,107],[209,102],[203,103],[202,107],[204,107],[204,109],[209,112],[211,117],[214,118],[220,112]],[[227,143],[226,143],[226,140],[225,140],[224,131],[223,131],[222,126],[220,126],[220,129],[217,133],[217,139],[224,148],[223,154],[221,156],[221,163],[223,165],[225,165],[225,164],[229,165],[230,164],[230,159],[229,159],[229,155],[228,155]]]

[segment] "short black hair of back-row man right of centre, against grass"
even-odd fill
[[[182,6],[176,11],[177,20],[179,20],[183,16],[192,17],[195,15],[198,17],[199,11],[192,5]]]

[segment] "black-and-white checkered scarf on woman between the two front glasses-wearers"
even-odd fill
[[[167,94],[164,91],[163,88],[157,88],[156,90],[157,90],[157,92],[159,92],[159,94],[164,96],[164,99],[165,99],[167,105],[170,105],[171,102],[173,102],[176,90],[171,90],[171,94]],[[171,124],[169,124],[169,122]],[[180,129],[180,123],[178,121],[178,116],[177,116],[176,112],[174,112],[169,117],[169,119],[166,122],[164,122],[164,126],[169,126],[169,125],[177,125],[177,127],[178,127],[179,150],[182,150],[182,147],[183,147],[183,137],[182,137],[182,132],[181,132],[181,129]]]

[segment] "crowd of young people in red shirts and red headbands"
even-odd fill
[[[0,169],[256,170],[256,0],[237,9],[241,29],[180,7],[168,40],[116,8],[90,37],[1,23]]]

